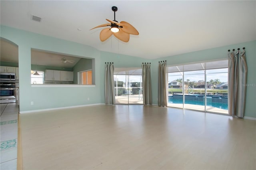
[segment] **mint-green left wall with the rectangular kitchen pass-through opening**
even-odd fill
[[[103,103],[100,79],[100,51],[80,43],[69,42],[7,26],[1,26],[0,35],[18,45],[20,111],[50,109],[76,105]],[[30,84],[31,48],[55,51],[95,59],[95,87],[32,87]],[[90,100],[87,100],[90,98]],[[30,102],[34,101],[34,105]]]

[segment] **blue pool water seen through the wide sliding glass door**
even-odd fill
[[[168,103],[182,104],[183,103],[183,99],[172,99],[172,98],[169,97]],[[202,105],[202,106],[204,106],[204,101],[189,100],[189,99],[185,98],[185,104]],[[212,106],[212,107],[217,107],[217,108],[220,108],[220,109],[228,110],[228,103],[212,102],[212,97],[207,97],[206,98],[206,106]]]

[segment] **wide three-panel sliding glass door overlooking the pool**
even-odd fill
[[[168,67],[168,106],[228,113],[228,60]]]

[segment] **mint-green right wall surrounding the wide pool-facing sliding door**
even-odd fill
[[[256,117],[256,41],[154,59],[151,65],[152,82],[158,82],[158,61],[166,60],[168,66],[214,59],[225,59],[228,58],[228,49],[242,49],[243,47],[246,48],[246,63],[248,67],[247,85],[249,85],[246,89],[245,116]],[[153,103],[157,104],[157,83],[152,83],[152,97]]]

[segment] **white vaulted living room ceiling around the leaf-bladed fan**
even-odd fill
[[[256,1],[0,1],[1,24],[147,59],[256,40]],[[140,33],[101,42],[91,28],[114,20]],[[31,20],[39,16],[41,22]],[[81,29],[81,31],[78,31]]]

